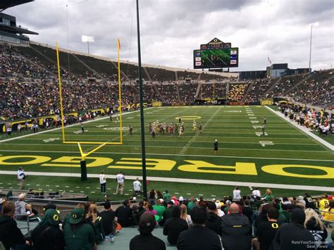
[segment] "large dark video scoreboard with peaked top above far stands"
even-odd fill
[[[235,68],[239,65],[239,48],[215,38],[194,50],[194,69]]]

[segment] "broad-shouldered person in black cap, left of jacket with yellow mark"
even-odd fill
[[[177,244],[178,250],[223,249],[221,237],[205,227],[208,218],[206,209],[202,207],[192,208],[191,217],[192,227],[180,233]]]

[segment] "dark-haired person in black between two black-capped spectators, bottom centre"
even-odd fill
[[[167,241],[172,245],[175,245],[178,242],[180,233],[188,229],[187,221],[180,218],[180,215],[180,207],[174,206],[172,217],[166,220],[165,225],[163,225],[163,235],[167,235]]]

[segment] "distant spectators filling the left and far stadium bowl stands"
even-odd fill
[[[68,73],[69,65],[66,64],[66,54],[61,53],[61,62],[64,65],[64,68],[61,68],[61,79],[65,113],[118,105],[116,65],[89,56],[71,55],[76,61],[72,64],[75,73]],[[56,64],[52,63],[55,61],[55,57],[53,49],[43,46],[34,45],[33,48],[20,48],[8,44],[0,45],[1,120],[57,114],[60,108],[57,68]],[[80,64],[80,61],[86,66],[82,66],[84,64]],[[87,65],[88,68],[94,68],[94,70],[89,71]],[[97,67],[97,65],[100,66]],[[111,69],[109,73],[107,72],[108,68]],[[135,82],[136,70],[135,65],[123,63],[123,81],[126,80],[124,74],[133,71],[133,74],[128,73],[130,81],[123,82],[122,85],[123,106],[139,101],[138,86]],[[225,98],[226,79],[223,76],[197,74],[186,70],[175,73],[159,68],[147,68],[146,71],[147,74],[151,75],[151,80],[155,82],[154,85],[152,82],[145,82],[144,101],[164,100],[167,103],[178,101],[193,103],[198,86],[193,81],[199,80],[199,75],[211,82],[215,80],[215,97]],[[175,77],[178,77],[177,83]],[[168,78],[172,79],[168,80]],[[281,77],[276,80],[276,85],[268,92],[273,81],[272,79],[262,79],[250,81],[247,85],[231,84],[227,99],[229,101],[252,102],[273,96],[288,95],[295,101],[316,106],[328,107],[334,104],[334,77],[330,70],[315,72],[311,75]],[[205,82],[202,85],[203,99],[214,97],[211,82]],[[292,88],[294,85],[297,85],[295,89]],[[247,89],[248,86],[249,89]],[[289,89],[291,91],[288,93]],[[246,90],[247,96],[245,96]]]

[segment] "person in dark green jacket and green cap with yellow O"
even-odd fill
[[[95,245],[94,227],[85,221],[85,211],[74,208],[64,227],[66,250],[93,249]]]

